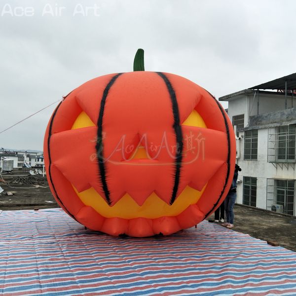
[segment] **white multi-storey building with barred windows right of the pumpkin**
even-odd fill
[[[237,127],[238,204],[296,216],[295,89],[291,74],[219,98]]]

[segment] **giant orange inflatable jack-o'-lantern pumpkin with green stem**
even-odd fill
[[[108,74],[53,112],[44,159],[60,206],[111,235],[171,234],[209,216],[234,172],[235,138],[217,100],[175,74]]]

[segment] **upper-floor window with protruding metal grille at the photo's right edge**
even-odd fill
[[[267,161],[296,162],[296,125],[283,125],[268,129]]]

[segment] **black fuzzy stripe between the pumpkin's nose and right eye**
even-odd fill
[[[179,115],[179,107],[178,107],[178,102],[176,98],[176,93],[173,89],[173,86],[168,79],[168,77],[161,73],[161,72],[156,72],[165,82],[168,92],[170,94],[171,102],[172,102],[172,109],[173,109],[173,115],[174,115],[174,125],[173,128],[175,130],[176,134],[176,144],[177,144],[177,149],[176,149],[176,161],[175,161],[175,181],[174,181],[174,187],[173,187],[173,192],[172,192],[172,197],[170,200],[170,204],[172,205],[177,197],[177,192],[179,189],[179,183],[180,183],[180,173],[181,173],[181,165],[182,165],[182,152],[183,152],[183,135],[182,135],[182,128],[180,125],[180,115]]]

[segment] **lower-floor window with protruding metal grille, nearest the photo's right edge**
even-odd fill
[[[267,179],[266,209],[295,216],[295,180]]]

